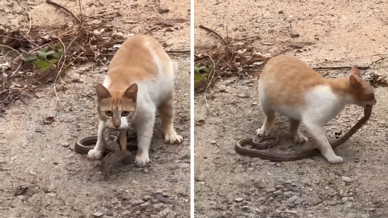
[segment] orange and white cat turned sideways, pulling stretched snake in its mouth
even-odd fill
[[[323,126],[344,109],[346,105],[374,106],[374,90],[361,78],[356,66],[345,78],[323,78],[319,73],[296,57],[279,55],[265,65],[259,79],[259,99],[265,121],[256,130],[267,136],[276,113],[289,117],[289,133],[297,143],[308,139],[300,133],[300,124],[315,141],[321,154],[333,164],[343,159],[334,154]]]

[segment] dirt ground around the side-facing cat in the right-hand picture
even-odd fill
[[[311,66],[368,66],[388,53],[388,5],[380,1],[194,0],[194,49],[221,47],[203,24],[254,52],[299,57]],[[355,58],[360,57],[360,58]],[[324,63],[322,63],[324,62]],[[386,60],[361,74],[385,77]],[[345,76],[346,69],[319,70],[326,77]],[[377,104],[368,123],[334,149],[343,164],[322,156],[270,162],[236,154],[236,140],[251,137],[263,123],[258,76],[246,74],[216,81],[214,97],[194,95],[194,210],[197,218],[221,217],[388,217],[388,89],[375,86]],[[326,127],[329,138],[345,133],[363,115],[349,106]],[[277,128],[287,128],[278,116]],[[276,128],[276,127],[275,127]],[[215,144],[214,144],[215,143]],[[348,177],[343,178],[343,176]],[[345,182],[346,180],[346,182]]]

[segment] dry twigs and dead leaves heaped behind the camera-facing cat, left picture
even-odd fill
[[[113,55],[126,38],[117,29],[107,26],[107,22],[89,25],[94,17],[81,14],[80,23],[74,26],[31,28],[26,35],[20,31],[0,35],[0,105],[15,100],[24,90],[35,90],[54,80],[54,89],[61,87],[64,70],[74,64],[85,61],[106,60],[106,55]],[[26,54],[19,48],[34,55],[44,47],[61,44],[65,52],[59,61],[46,71],[40,72],[35,64],[25,62]],[[59,98],[58,98],[59,99]]]

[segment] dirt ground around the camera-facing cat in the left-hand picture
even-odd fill
[[[33,29],[75,22],[67,12],[43,0],[20,2],[31,13]],[[115,33],[148,31],[165,50],[190,47],[187,0],[81,2],[84,15],[99,17],[93,22],[103,20]],[[80,14],[78,1],[58,3]],[[18,1],[1,1],[0,8],[0,29],[27,32],[28,14]],[[163,22],[173,26],[160,24]],[[179,64],[175,128],[184,142],[164,144],[157,118],[151,162],[144,168],[127,164],[104,179],[100,160],[91,161],[73,151],[78,138],[97,133],[94,87],[104,80],[109,58],[102,66],[87,62],[66,71],[66,90],[58,93],[64,109],[59,107],[52,83],[23,92],[20,100],[0,106],[0,217],[189,217],[190,57],[189,53],[169,54]],[[50,125],[43,124],[47,116],[55,119]]]

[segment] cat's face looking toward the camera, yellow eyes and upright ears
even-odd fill
[[[99,84],[96,86],[97,110],[99,118],[110,128],[128,128],[136,111],[137,84],[132,84],[125,92],[109,92]]]

